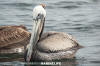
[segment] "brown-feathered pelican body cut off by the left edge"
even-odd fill
[[[30,35],[23,25],[0,26],[0,53],[13,53],[15,48],[26,46]]]

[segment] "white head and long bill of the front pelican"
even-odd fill
[[[33,28],[30,43],[28,46],[26,61],[30,62],[32,52],[36,49],[36,44],[42,34],[43,26],[45,22],[46,11],[45,4],[40,4],[33,9]]]

